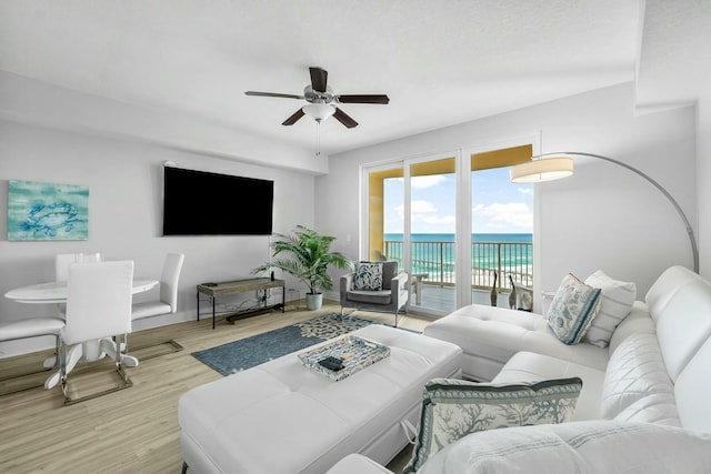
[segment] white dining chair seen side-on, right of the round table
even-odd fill
[[[166,255],[163,270],[160,275],[159,297],[157,300],[133,303],[131,309],[131,317],[133,321],[171,314],[178,311],[178,282],[180,281],[180,272],[184,260],[186,255],[183,253],[170,252]],[[170,339],[133,347],[132,350],[140,351],[159,345],[166,345],[168,349],[141,355],[141,359],[158,357],[159,355],[170,354],[182,351],[183,349],[177,341]]]

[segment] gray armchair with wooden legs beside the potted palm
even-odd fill
[[[341,314],[343,309],[393,312],[395,314],[395,327],[398,327],[398,313],[408,302],[408,284],[410,275],[398,270],[398,262],[378,262],[382,264],[382,290],[356,290],[354,273],[341,276]]]

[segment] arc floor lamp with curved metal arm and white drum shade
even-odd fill
[[[541,153],[538,157],[534,157],[534,160],[511,167],[511,182],[539,183],[543,181],[552,181],[570,177],[573,173],[573,159],[571,158],[571,155],[595,158],[598,160],[618,164],[642,177],[654,188],[657,188],[662,194],[664,194],[669,202],[671,202],[671,204],[674,206],[674,209],[679,213],[679,216],[683,221],[684,226],[687,228],[687,234],[689,234],[689,241],[691,242],[691,252],[693,254],[693,271],[699,273],[699,249],[697,246],[697,239],[693,234],[693,229],[689,223],[689,219],[687,219],[687,214],[684,214],[684,211],[681,209],[677,200],[669,193],[669,191],[667,191],[661,184],[659,184],[652,178],[644,174],[634,167],[631,167],[612,158],[603,157],[601,154],[585,153],[580,151]]]

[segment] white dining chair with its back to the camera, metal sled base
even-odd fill
[[[69,268],[67,281],[67,313],[61,331],[59,379],[64,404],[73,404],[101,396],[132,385],[123,370],[121,351],[117,350],[121,335],[131,332],[132,261],[74,263]],[[117,337],[117,341],[113,341]],[[68,355],[68,346],[76,344]],[[96,354],[87,353],[97,347]],[[116,355],[119,385],[72,397],[68,375],[80,359],[97,360],[103,353]],[[52,382],[48,380],[46,387]]]

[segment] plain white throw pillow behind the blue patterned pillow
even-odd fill
[[[585,284],[599,288],[600,312],[592,320],[592,325],[583,336],[583,341],[599,347],[607,347],[614,329],[620,324],[637,300],[637,285],[611,279],[602,270],[598,270],[585,279]]]

